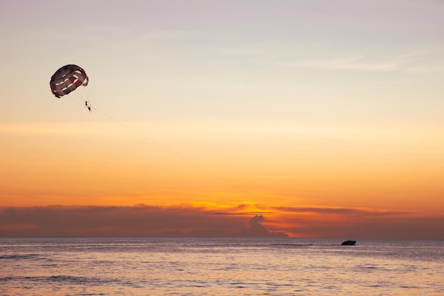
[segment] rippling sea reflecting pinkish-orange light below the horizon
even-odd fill
[[[444,295],[444,241],[0,239],[0,295]]]

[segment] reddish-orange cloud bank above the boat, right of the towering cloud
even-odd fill
[[[275,207],[292,236],[372,239],[444,239],[444,216],[341,207]]]

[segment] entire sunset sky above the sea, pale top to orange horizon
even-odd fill
[[[0,0],[0,236],[444,239],[443,15]]]

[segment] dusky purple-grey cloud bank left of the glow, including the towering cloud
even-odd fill
[[[242,207],[241,207],[242,208]],[[237,208],[235,208],[237,209]],[[263,217],[262,217],[263,219]],[[187,205],[0,209],[0,236],[270,236],[245,216]],[[257,231],[263,227],[262,231]],[[264,230],[265,229],[265,230]]]

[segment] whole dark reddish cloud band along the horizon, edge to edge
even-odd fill
[[[444,216],[335,207],[274,207],[272,212],[263,215],[250,210],[239,212],[239,207],[221,212],[189,205],[7,207],[0,208],[0,237],[286,237],[290,234],[355,239],[444,239]]]

